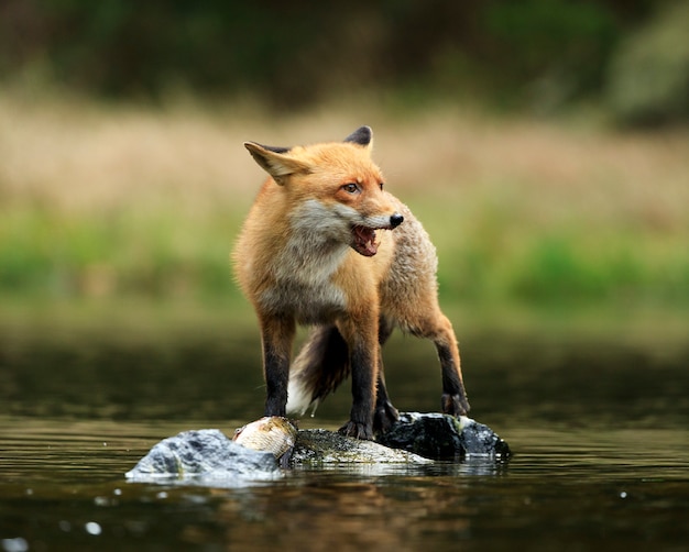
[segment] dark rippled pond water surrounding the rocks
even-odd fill
[[[489,335],[489,334],[486,334]],[[491,335],[463,344],[472,416],[508,461],[295,468],[240,488],[132,484],[157,441],[261,416],[255,335],[0,336],[0,551],[686,550],[689,346]],[[433,351],[394,340],[401,410],[433,411]],[[339,390],[300,427],[337,428]]]

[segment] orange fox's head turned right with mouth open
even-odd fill
[[[361,126],[343,142],[244,146],[287,196],[294,230],[318,233],[373,256],[379,246],[375,231],[393,230],[404,217],[383,190],[383,176],[371,159],[372,144],[371,129]]]

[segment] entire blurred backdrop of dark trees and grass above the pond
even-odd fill
[[[3,0],[0,324],[256,332],[242,142],[369,124],[458,333],[683,339],[687,36],[670,0]]]

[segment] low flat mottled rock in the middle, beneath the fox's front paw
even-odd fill
[[[417,454],[360,441],[325,429],[300,430],[291,465],[299,464],[429,464]]]

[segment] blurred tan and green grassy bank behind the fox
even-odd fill
[[[241,143],[373,126],[445,301],[689,305],[689,137],[369,101],[103,106],[0,90],[0,297],[234,301],[228,254],[263,178]]]

